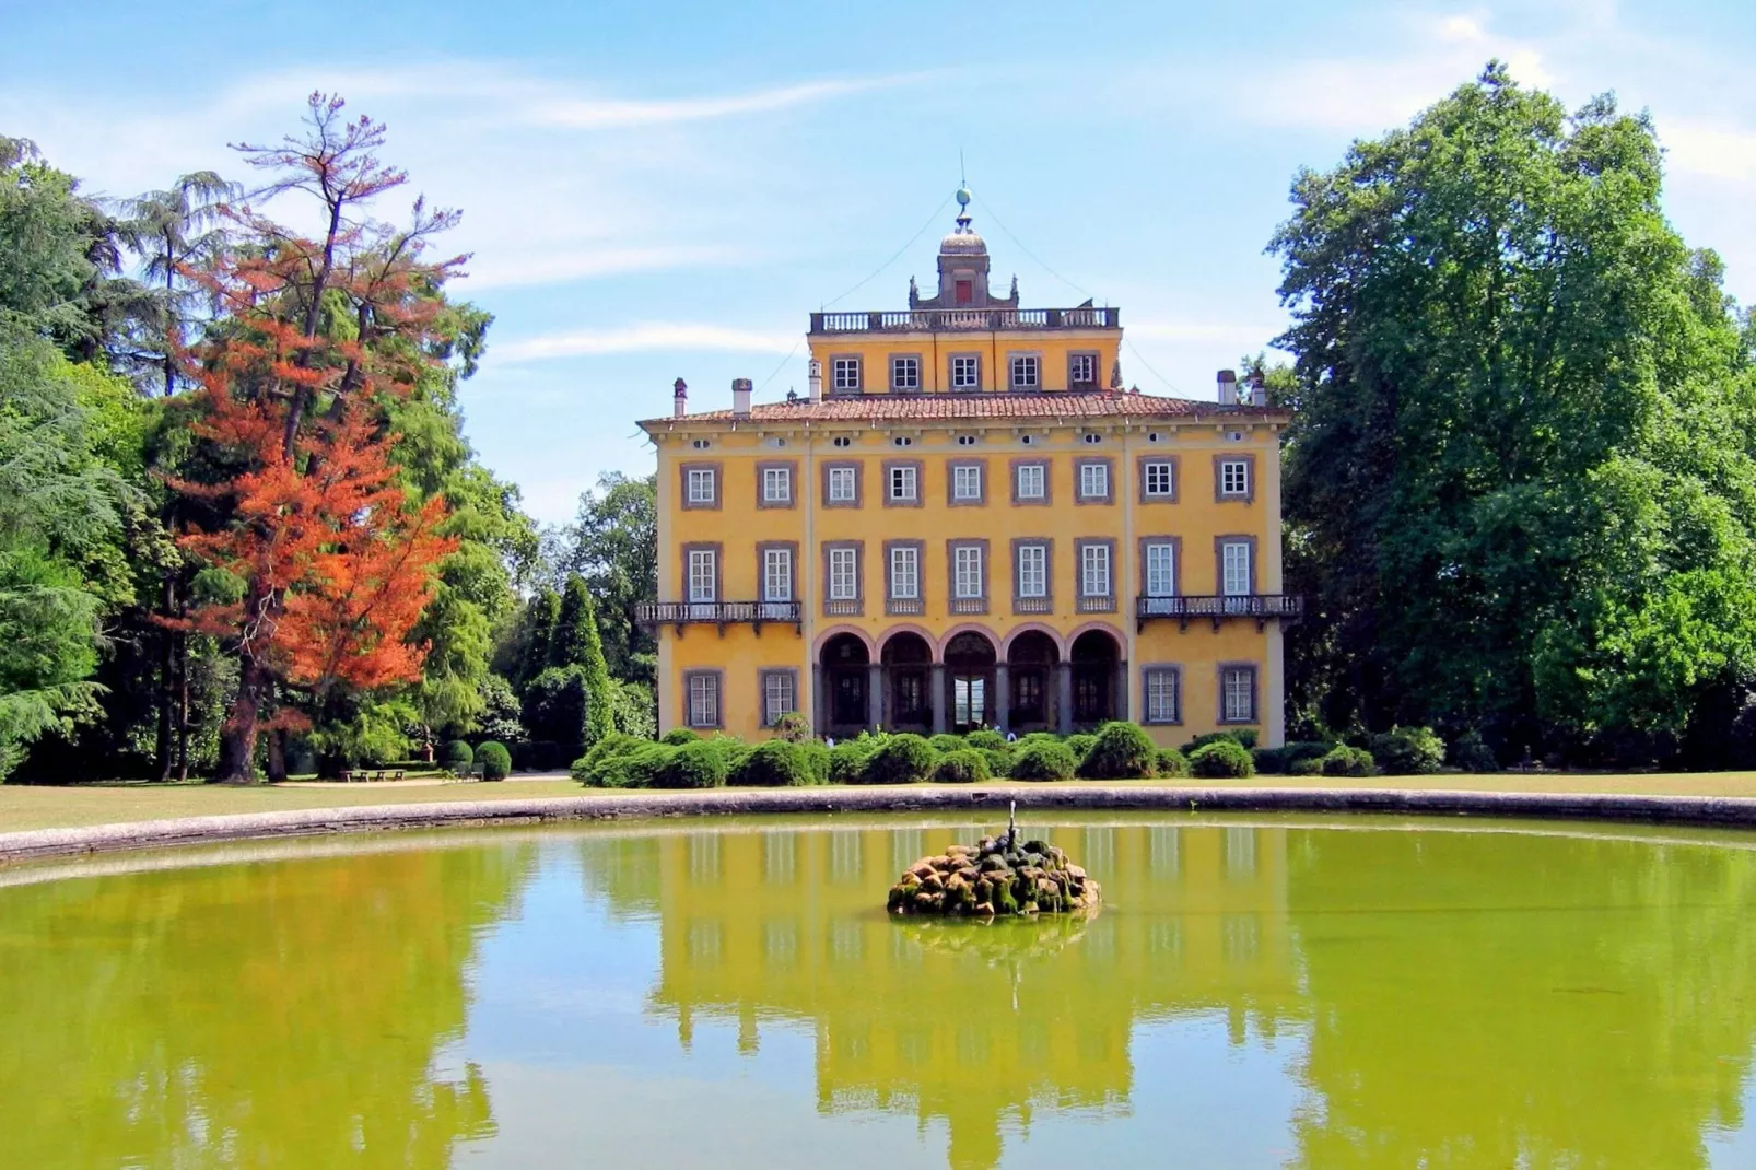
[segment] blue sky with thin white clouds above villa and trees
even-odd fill
[[[130,195],[242,176],[225,144],[314,88],[386,121],[409,193],[464,209],[460,292],[497,316],[469,436],[560,522],[599,471],[650,467],[634,420],[674,378],[695,409],[738,376],[802,392],[811,309],[931,288],[959,151],[997,283],[1120,306],[1126,378],[1212,397],[1284,323],[1263,246],[1292,172],[1491,56],[1649,109],[1672,220],[1756,300],[1749,0],[0,0],[0,134]]]

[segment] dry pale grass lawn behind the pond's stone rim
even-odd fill
[[[996,782],[1006,784],[1006,782]],[[1073,780],[1069,784],[1080,784]],[[1651,796],[1752,796],[1756,773],[1652,773],[1631,776],[1524,775],[1491,776],[1373,776],[1342,780],[1324,776],[1257,776],[1256,780],[1138,780],[1148,785],[1256,785],[1285,789],[1470,789],[1479,792],[1617,792]],[[1034,785],[1040,787],[1040,785]],[[578,796],[583,789],[565,776],[511,780],[506,784],[369,784],[316,785],[279,784],[234,787],[218,784],[83,784],[74,787],[0,785],[0,833],[19,829],[67,829],[91,824],[209,817],[300,808],[353,808],[360,805],[420,805],[427,801],[525,799]]]

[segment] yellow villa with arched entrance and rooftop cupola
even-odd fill
[[[968,191],[938,290],[813,313],[810,395],[643,422],[658,453],[660,729],[1284,740],[1280,430],[1124,390],[1120,313],[999,297]]]

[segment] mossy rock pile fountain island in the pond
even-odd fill
[[[922,857],[903,871],[885,905],[894,915],[969,919],[1098,912],[1103,891],[1085,870],[1047,841],[1020,838],[1013,801],[1006,833]]]

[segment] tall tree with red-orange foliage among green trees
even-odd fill
[[[184,545],[241,581],[237,599],[190,618],[239,655],[223,780],[255,773],[258,734],[302,724],[300,701],[418,680],[427,646],[409,632],[455,548],[439,534],[443,501],[416,508],[397,485],[383,408],[439,341],[439,286],[462,256],[428,264],[421,253],[457,214],[420,200],[407,228],[358,214],[406,176],[376,158],[383,126],[341,111],[341,98],[314,93],[304,137],[237,148],[272,172],[258,195],[320,202],[321,235],[228,207],[241,239],[197,274],[227,309],[191,355],[214,474],[176,487],[212,518]]]

